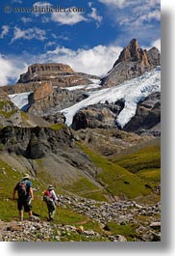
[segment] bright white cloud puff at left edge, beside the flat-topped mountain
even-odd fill
[[[26,71],[27,64],[17,56],[7,57],[0,54],[0,86],[16,81]]]

